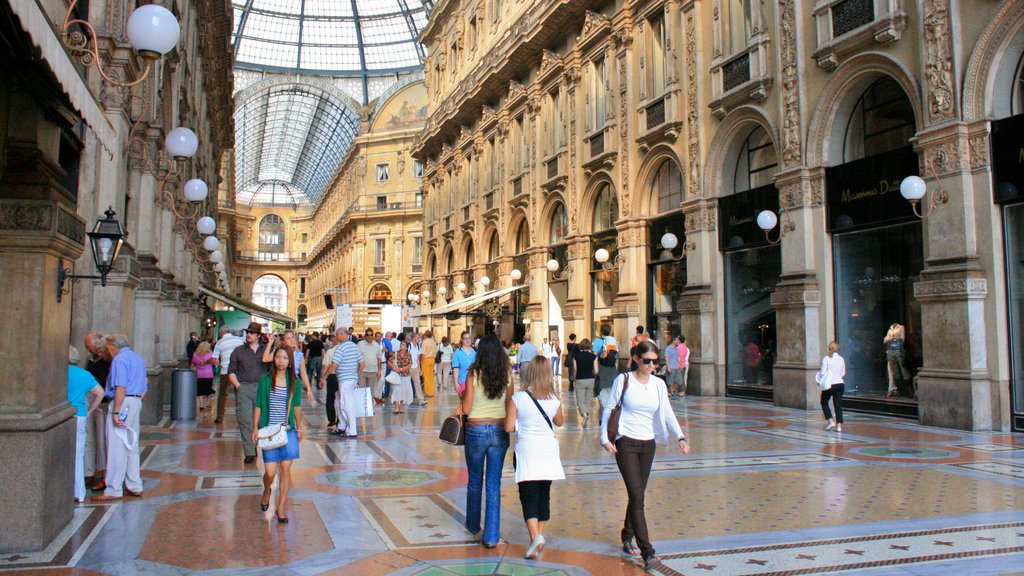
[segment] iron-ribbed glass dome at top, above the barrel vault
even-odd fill
[[[231,0],[234,66],[326,76],[422,67],[423,0]],[[429,0],[426,2],[429,6]]]

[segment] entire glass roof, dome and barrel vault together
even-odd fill
[[[368,104],[371,93],[422,69],[424,4],[432,2],[231,0],[234,68],[294,79],[249,90],[236,106],[240,204],[316,203],[355,138],[359,112],[302,76],[357,83],[361,94],[344,90]]]

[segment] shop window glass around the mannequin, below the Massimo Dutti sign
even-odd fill
[[[913,284],[921,280],[923,254],[920,221],[833,237],[836,336],[847,396],[914,399],[913,377],[924,361]],[[905,327],[902,359],[890,359],[883,343],[893,323]]]

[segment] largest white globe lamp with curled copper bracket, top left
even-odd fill
[[[128,42],[138,52],[138,55],[145,61],[145,70],[142,74],[131,82],[115,80],[106,75],[103,70],[102,58],[99,57],[99,46],[96,41],[96,29],[86,20],[73,18],[72,12],[78,5],[78,0],[72,0],[65,13],[63,28],[60,30],[60,39],[68,50],[81,56],[85,66],[95,65],[96,71],[108,83],[114,86],[131,87],[141,84],[153,70],[153,63],[159,60],[170,52],[178,43],[181,35],[181,27],[178,26],[177,18],[170,10],[157,4],[146,4],[139,6],[128,16]],[[85,29],[86,34],[71,31],[71,27],[79,25]]]

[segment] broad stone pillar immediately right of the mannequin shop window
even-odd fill
[[[927,204],[948,195],[925,218],[921,303],[924,367],[918,378],[923,424],[974,430],[1010,427],[1010,389],[999,380],[996,301],[1004,263],[1001,227],[991,215],[987,127],[946,124],[918,134]],[[927,206],[922,207],[928,210]],[[1002,348],[1006,349],[1006,348]]]

